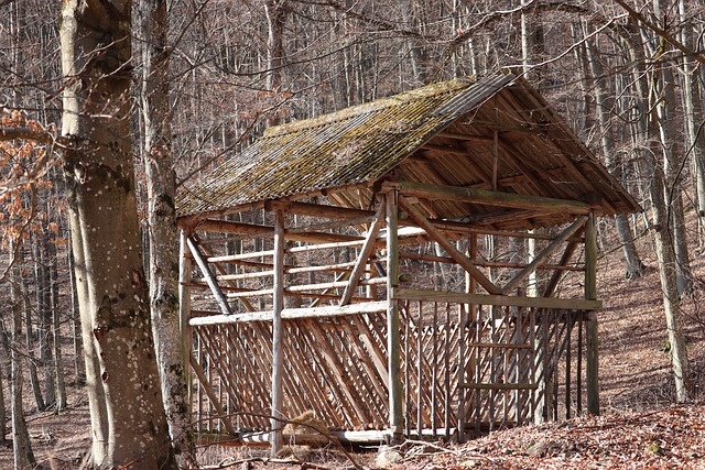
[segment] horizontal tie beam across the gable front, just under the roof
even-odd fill
[[[402,196],[415,196],[424,199],[445,199],[459,203],[482,204],[512,209],[567,212],[585,216],[589,205],[578,200],[554,199],[542,196],[527,196],[514,193],[501,193],[486,189],[473,189],[459,186],[438,186],[425,183],[395,183]]]

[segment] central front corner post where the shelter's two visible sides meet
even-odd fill
[[[389,368],[389,428],[392,439],[401,438],[403,427],[401,383],[401,331],[399,304],[394,292],[399,287],[399,193],[392,188],[384,196],[387,204],[387,351]],[[409,338],[406,338],[409,340]],[[409,360],[409,358],[406,358]]]

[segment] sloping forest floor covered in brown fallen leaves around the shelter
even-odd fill
[[[601,416],[582,416],[495,431],[465,445],[405,442],[392,452],[394,469],[705,469],[705,256],[692,253],[694,291],[684,302],[688,356],[696,395],[675,405],[655,259],[642,237],[647,274],[628,282],[618,249],[603,252],[598,288]],[[616,245],[611,242],[607,245]],[[702,313],[698,313],[703,310]],[[28,389],[25,389],[26,391]],[[31,412],[28,425],[37,461],[50,469],[77,469],[90,447],[90,417],[82,389],[69,387],[68,409]],[[25,393],[28,395],[28,393]],[[8,396],[8,395],[6,395]],[[10,437],[10,436],[8,436]],[[208,468],[351,468],[380,466],[377,453],[335,449],[267,461],[262,450],[199,450]],[[300,457],[310,463],[302,467]],[[0,469],[12,468],[12,446],[0,446]]]

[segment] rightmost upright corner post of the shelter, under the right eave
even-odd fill
[[[585,298],[597,298],[597,236],[595,214],[585,223]],[[587,321],[587,412],[599,415],[599,354],[597,338],[597,313],[590,311]]]

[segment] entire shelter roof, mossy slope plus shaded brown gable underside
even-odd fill
[[[430,85],[305,121],[270,128],[177,197],[178,217],[400,181],[581,200],[600,215],[640,210],[543,98],[511,74]],[[359,188],[359,186],[357,186]],[[339,193],[355,207],[369,188]],[[338,203],[336,203],[338,204]],[[570,214],[507,211],[426,200],[433,217],[502,228],[558,225]]]

